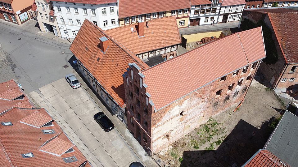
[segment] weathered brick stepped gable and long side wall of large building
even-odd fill
[[[140,73],[138,66],[130,64],[124,75],[129,131],[146,151],[147,148],[152,152],[167,148],[211,116],[238,105],[244,99],[258,65],[259,62],[255,62],[247,66],[247,70],[241,68],[216,79],[155,111],[154,102],[146,92],[146,76]]]

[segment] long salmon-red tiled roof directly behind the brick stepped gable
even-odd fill
[[[142,74],[148,86],[146,90],[158,110],[265,56],[259,27],[210,42],[144,70]]]

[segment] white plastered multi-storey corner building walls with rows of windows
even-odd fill
[[[75,38],[85,19],[103,30],[119,27],[117,1],[107,4],[52,1],[52,4],[63,38]]]

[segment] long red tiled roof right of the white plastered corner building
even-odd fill
[[[190,8],[189,0],[121,0],[119,18]]]

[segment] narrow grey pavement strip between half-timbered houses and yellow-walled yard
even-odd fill
[[[188,35],[188,34],[196,34],[201,32],[210,32],[214,30],[225,31],[225,30],[229,30],[230,28],[237,28],[238,24],[239,24],[239,21],[233,21],[228,23],[214,24],[214,26],[211,26],[211,25],[189,26],[187,28],[180,28],[179,33],[180,35]]]

